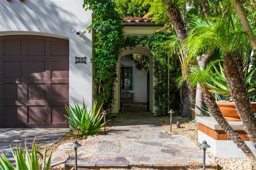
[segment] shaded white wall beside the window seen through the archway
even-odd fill
[[[123,57],[122,57],[123,58]],[[121,58],[121,64],[126,67],[132,67],[132,90],[127,90],[133,95],[134,103],[147,103],[147,71],[138,70],[132,60],[125,61]]]

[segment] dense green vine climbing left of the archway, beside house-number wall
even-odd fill
[[[93,58],[95,72],[93,75],[94,99],[103,108],[111,108],[114,101],[114,83],[116,81],[116,64],[124,44],[123,26],[115,12],[115,4],[109,0],[84,0],[85,10],[91,10],[94,18],[88,28],[95,32]]]

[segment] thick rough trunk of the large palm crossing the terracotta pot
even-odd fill
[[[254,148],[256,148],[256,117],[253,115],[249,94],[245,86],[241,56],[226,54],[224,58],[224,73],[237,113]]]

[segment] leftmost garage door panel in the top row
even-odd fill
[[[22,39],[4,39],[3,40],[3,56],[21,56],[22,55]]]

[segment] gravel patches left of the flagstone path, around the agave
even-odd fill
[[[106,132],[108,133],[111,129],[111,126],[112,124],[114,123],[114,118],[111,118],[107,124],[106,124]],[[105,135],[104,133],[104,128],[101,129],[101,131],[99,132],[98,135]],[[54,145],[52,145],[48,150],[47,150],[47,156],[49,156],[50,154],[50,151],[52,150],[52,152],[55,152],[55,151],[63,151],[63,150],[60,150],[58,147],[60,145],[63,145],[65,143],[70,143],[70,142],[73,142],[74,140],[77,140],[78,143],[82,143],[84,140],[86,140],[86,138],[74,138],[72,135],[70,134],[66,134],[64,135],[60,140],[58,140],[56,143],[54,143]],[[65,151],[66,154],[68,154],[69,157],[73,156],[74,154],[74,151]],[[42,159],[39,158],[39,163],[42,163]],[[51,170],[64,170],[65,169],[65,164],[59,164],[59,165],[56,165],[54,167],[51,167],[50,168]]]

